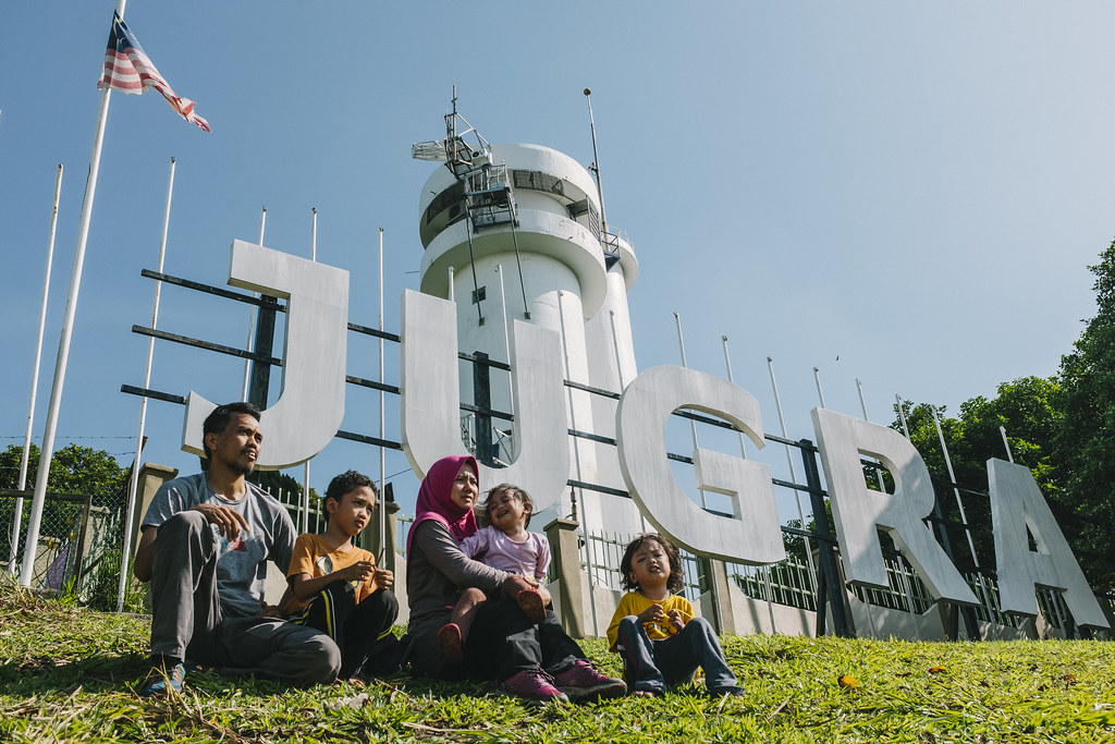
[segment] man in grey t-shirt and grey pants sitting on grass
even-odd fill
[[[152,669],[140,694],[181,692],[187,658],[225,674],[331,683],[337,644],[263,603],[266,561],[285,574],[295,532],[287,509],[245,480],[263,442],[259,409],[217,406],[202,433],[209,468],[164,483],[143,520],[134,571],[151,581]]]

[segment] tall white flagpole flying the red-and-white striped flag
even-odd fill
[[[116,15],[124,18],[126,0],[116,0]],[[31,515],[27,522],[27,542],[23,545],[23,566],[19,572],[21,587],[30,587],[35,576],[35,554],[39,545],[39,528],[42,524],[42,503],[47,497],[47,481],[50,477],[50,460],[55,454],[55,432],[58,426],[58,409],[61,407],[62,387],[66,384],[66,363],[69,361],[70,338],[74,335],[74,316],[77,313],[77,296],[81,288],[81,270],[85,267],[85,247],[89,241],[89,220],[93,216],[93,200],[97,194],[97,174],[100,172],[100,149],[105,142],[105,123],[108,120],[108,98],[112,88],[100,91],[100,109],[97,112],[97,129],[93,135],[93,152],[89,155],[89,174],[85,182],[85,199],[81,201],[81,216],[78,220],[77,244],[74,247],[74,265],[70,269],[69,291],[66,296],[66,312],[62,330],[58,339],[58,357],[55,360],[55,376],[50,384],[50,405],[47,408],[47,424],[42,433],[42,451],[39,453],[39,474],[31,496]]]

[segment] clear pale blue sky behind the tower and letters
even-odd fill
[[[0,445],[27,416],[57,164],[65,165],[40,376],[41,436],[114,3],[19,3],[0,50]],[[312,11],[308,8],[313,8]],[[156,94],[114,94],[58,423],[122,462],[135,436],[169,158],[177,158],[166,271],[227,278],[233,239],[351,272],[351,320],[377,319],[385,229],[386,327],[416,288],[417,205],[434,165],[413,142],[462,113],[491,142],[592,161],[593,109],[609,224],[640,261],[629,300],[639,366],[679,361],[735,379],[791,436],[827,406],[876,422],[894,395],[948,405],[1050,375],[1093,313],[1086,265],[1115,236],[1115,8],[1099,2],[370,3],[132,0],[125,19],[205,134]],[[33,47],[31,46],[33,42]],[[165,289],[159,326],[243,345],[243,308]],[[375,344],[349,373],[375,377]],[[239,396],[241,366],[156,346],[152,386]],[[398,381],[389,352],[388,381]],[[397,438],[391,407],[388,436]],[[149,406],[147,458],[190,472],[183,409]],[[343,427],[375,434],[376,397],[352,392]],[[779,455],[780,456],[780,455]],[[777,458],[772,457],[772,462]],[[378,454],[337,443],[311,483]],[[388,473],[406,467],[388,458]],[[299,475],[300,477],[300,475]],[[413,481],[400,500],[413,503]]]

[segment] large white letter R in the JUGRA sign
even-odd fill
[[[888,586],[878,525],[890,533],[935,599],[979,605],[922,521],[933,509],[933,484],[918,450],[892,428],[825,408],[812,413],[847,580]],[[893,494],[867,487],[861,453],[891,472]]]

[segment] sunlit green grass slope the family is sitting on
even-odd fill
[[[743,698],[530,706],[491,684],[398,675],[289,689],[192,674],[146,700],[148,618],[0,589],[0,741],[1111,742],[1115,644],[725,639]],[[582,644],[605,671],[603,641]],[[859,686],[845,687],[849,675]]]

